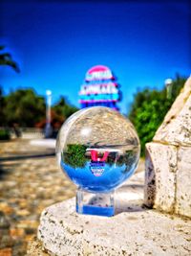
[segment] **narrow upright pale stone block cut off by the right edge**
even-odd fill
[[[176,213],[191,218],[191,148],[178,151]]]

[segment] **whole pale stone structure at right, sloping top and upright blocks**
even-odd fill
[[[144,202],[191,217],[191,77],[146,145]]]

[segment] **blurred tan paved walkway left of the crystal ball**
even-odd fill
[[[0,157],[0,211],[11,223],[11,236],[0,237],[0,256],[24,255],[42,210],[74,197],[75,187],[58,169],[53,147],[21,139],[0,142]]]

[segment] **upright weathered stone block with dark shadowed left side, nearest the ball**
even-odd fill
[[[173,212],[176,192],[177,148],[159,143],[146,145],[144,202]]]

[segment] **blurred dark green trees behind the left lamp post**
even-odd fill
[[[55,130],[76,110],[75,106],[67,103],[64,97],[52,107],[52,126]],[[36,95],[33,89],[17,89],[9,95],[3,95],[0,87],[0,123],[1,126],[45,128],[46,105],[45,98]]]

